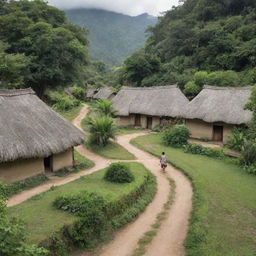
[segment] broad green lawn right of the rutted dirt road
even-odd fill
[[[194,211],[187,239],[189,256],[256,255],[256,177],[238,166],[161,144],[159,135],[133,144],[184,170],[195,187]]]

